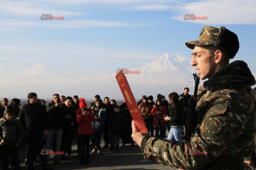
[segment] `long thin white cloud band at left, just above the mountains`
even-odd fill
[[[86,47],[86,48],[84,48]],[[65,50],[63,50],[65,49]],[[89,59],[93,62],[142,64],[138,59],[155,59],[157,55],[138,49],[92,47],[90,44],[72,42],[26,42],[23,45],[0,45],[0,59]],[[8,56],[8,57],[7,57]],[[93,56],[94,59],[91,59]],[[125,60],[122,60],[125,59]],[[129,61],[130,59],[130,61]]]

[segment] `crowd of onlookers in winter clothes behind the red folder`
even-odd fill
[[[166,138],[166,129],[170,131],[168,139],[182,140],[185,109],[179,105],[185,99],[189,107],[189,88],[179,97],[177,93],[169,95],[169,102],[164,95],[158,94],[154,103],[153,96],[143,95],[137,102],[143,120],[148,128],[148,135]],[[78,157],[82,165],[90,162],[90,154],[101,153],[101,140],[104,148],[119,150],[119,141],[134,145],[131,139],[131,114],[125,103],[117,105],[116,100],[105,97],[102,101],[96,95],[88,105],[84,98],[74,95],[53,94],[46,104],[38,95],[27,95],[27,103],[20,108],[20,99],[2,99],[0,108],[0,150],[3,169],[11,166],[20,169],[19,146],[26,143],[25,163],[34,169],[34,162],[39,157],[43,169],[50,155],[59,164],[72,153],[73,141],[78,144]],[[185,105],[183,103],[183,105]],[[171,128],[171,129],[170,129]],[[102,138],[103,137],[103,138]]]

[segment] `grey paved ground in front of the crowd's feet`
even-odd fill
[[[121,144],[120,144],[121,145]],[[23,151],[20,151],[23,152]],[[24,157],[20,153],[21,157]],[[24,158],[20,158],[20,162],[23,162]],[[24,164],[21,164],[22,169],[26,169]],[[147,161],[143,158],[143,153],[137,145],[131,146],[130,144],[125,147],[120,147],[119,151],[109,151],[109,149],[102,149],[101,154],[92,154],[90,156],[90,164],[88,166],[80,165],[80,161],[77,158],[77,145],[73,145],[73,154],[67,156],[67,161],[61,161],[61,164],[53,164],[52,159],[49,160],[49,166],[54,167],[55,170],[65,169],[88,169],[88,170],[143,170],[143,169],[168,169],[174,170],[175,168],[160,165],[154,161]],[[37,169],[40,169],[37,165]]]

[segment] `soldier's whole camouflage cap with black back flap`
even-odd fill
[[[213,45],[221,48],[225,53],[233,59],[239,49],[239,41],[236,34],[224,26],[216,28],[213,26],[205,26],[201,29],[200,35],[196,41],[185,42],[188,48],[194,49],[198,46]]]

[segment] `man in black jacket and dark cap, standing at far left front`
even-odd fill
[[[27,94],[27,99],[28,103],[22,106],[19,118],[26,132],[28,167],[29,170],[34,169],[34,161],[36,156],[39,155],[43,169],[50,169],[44,156],[40,154],[43,149],[42,135],[46,137],[48,134],[48,115],[44,107],[38,104],[38,94],[29,93]]]

